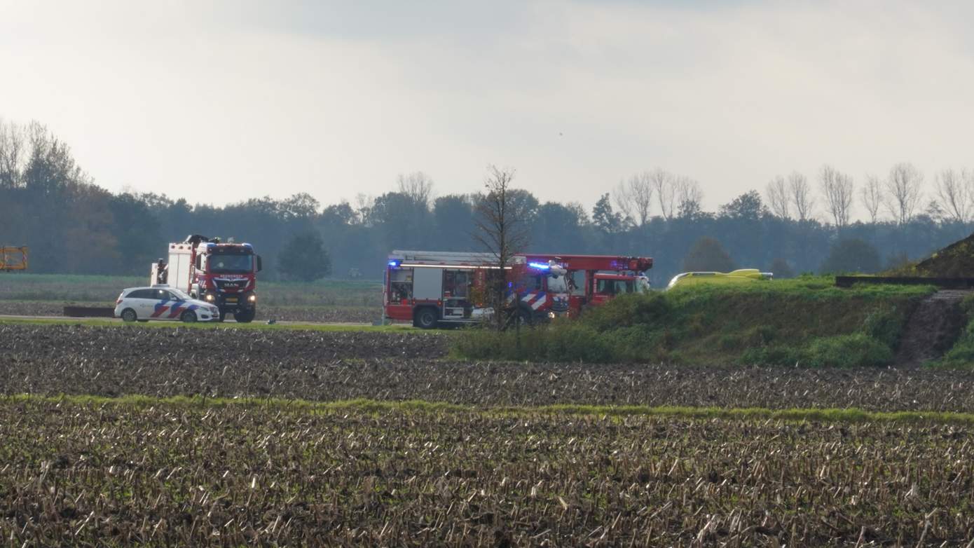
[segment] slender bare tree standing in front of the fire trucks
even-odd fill
[[[496,270],[488,273],[490,278],[486,295],[487,303],[494,309],[494,324],[504,329],[510,316],[506,306],[506,272],[513,264],[513,257],[523,251],[528,244],[528,227],[514,202],[510,182],[514,170],[488,167],[484,181],[485,193],[477,200],[474,215],[476,231],[473,238],[494,256]],[[513,311],[516,312],[516,309]]]

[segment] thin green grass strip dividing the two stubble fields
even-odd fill
[[[587,405],[545,405],[538,407],[477,407],[445,402],[423,400],[377,401],[369,399],[315,402],[309,400],[289,400],[280,398],[205,398],[202,396],[153,397],[131,395],[122,397],[101,397],[92,395],[42,396],[35,394],[16,394],[0,396],[2,404],[17,403],[66,403],[71,405],[108,405],[119,407],[147,408],[152,406],[173,406],[184,408],[267,408],[275,411],[297,412],[421,412],[421,413],[463,413],[484,417],[521,416],[566,416],[566,417],[671,417],[692,420],[788,420],[817,422],[917,422],[940,424],[974,424],[974,414],[941,411],[866,411],[858,408],[846,409],[766,409],[766,408],[720,408],[720,407],[674,407],[674,406],[587,406]]]

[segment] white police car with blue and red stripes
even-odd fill
[[[115,317],[125,321],[170,319],[185,322],[220,319],[220,310],[175,287],[130,287],[115,301]]]

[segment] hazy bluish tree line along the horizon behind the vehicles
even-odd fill
[[[38,273],[147,275],[167,242],[189,234],[248,241],[264,257],[262,276],[284,279],[378,278],[392,249],[481,250],[475,211],[484,195],[435,190],[430,176],[415,172],[380,196],[330,204],[308,193],[224,206],[110,193],[47,128],[0,121],[0,244],[29,245]],[[524,190],[508,196],[528,250],[654,257],[650,274],[659,285],[714,264],[778,275],[898,266],[969,234],[974,172],[927,178],[896,164],[857,186],[824,165],[811,178],[773,177],[764,193],[748,191],[716,211],[703,210],[703,198],[697,181],[663,169],[621,180],[590,208]]]

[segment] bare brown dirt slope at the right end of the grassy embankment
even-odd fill
[[[944,290],[927,297],[911,314],[896,350],[896,363],[917,366],[954,346],[964,326],[960,301],[970,291]]]

